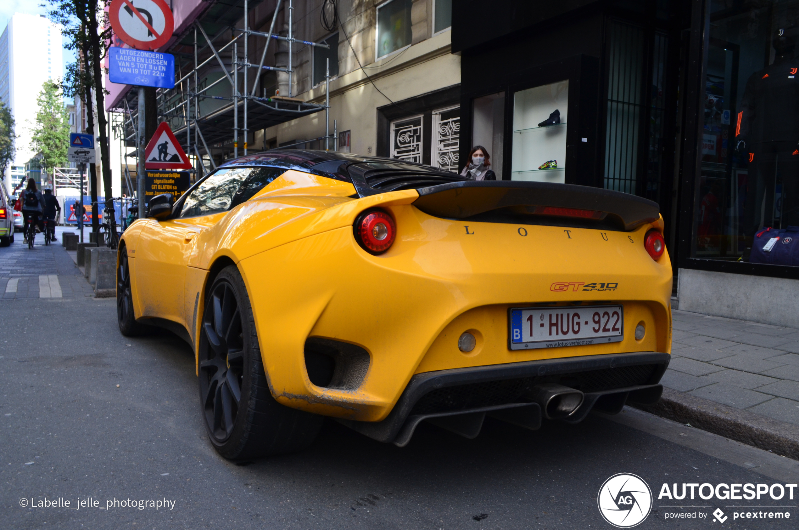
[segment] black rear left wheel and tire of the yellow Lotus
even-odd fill
[[[221,456],[256,460],[313,443],[324,418],[272,397],[252,307],[236,265],[222,269],[208,291],[198,353],[201,412],[209,440]]]

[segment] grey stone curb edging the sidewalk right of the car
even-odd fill
[[[663,388],[663,395],[658,403],[634,406],[730,440],[799,460],[799,425],[773,420],[666,387]]]

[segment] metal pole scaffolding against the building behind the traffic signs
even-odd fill
[[[191,42],[193,57],[189,58],[189,54],[185,53],[176,54],[184,60],[189,58],[189,64],[186,65],[184,61],[177,62],[177,80],[173,89],[157,90],[159,121],[171,122],[173,132],[178,141],[181,142],[185,152],[189,156],[196,156],[197,160],[200,161],[197,168],[198,172],[202,173],[206,169],[216,169],[217,163],[213,159],[213,150],[217,149],[217,153],[220,151],[229,153],[229,147],[225,146],[225,144],[229,144],[231,137],[233,137],[233,157],[238,157],[240,154],[246,155],[250,148],[248,145],[250,126],[253,124],[259,130],[266,129],[270,126],[324,110],[326,127],[324,136],[296,142],[294,145],[307,144],[310,141],[323,139],[325,141],[325,149],[329,149],[331,145],[329,141],[331,137],[329,127],[329,65],[325,80],[326,97],[324,105],[306,103],[292,97],[292,78],[295,74],[292,65],[293,46],[296,43],[300,43],[329,49],[328,44],[294,38],[293,0],[288,0],[288,35],[276,34],[275,31],[283,0],[277,0],[274,14],[272,14],[272,22],[267,33],[250,29],[249,9],[251,5],[257,2],[258,0],[243,0],[241,4],[238,4],[243,7],[244,15],[235,20],[236,22],[241,20],[243,28],[236,27],[231,22],[233,20],[231,11],[237,9],[238,5],[228,6],[228,10],[219,12],[225,14],[227,17],[226,22],[230,22],[230,26],[223,27],[213,36],[209,36],[203,27],[203,22],[206,21],[207,17],[213,16],[213,13],[207,12],[204,17],[198,18],[193,23],[193,27],[190,27],[189,32],[184,34],[183,37],[184,46],[188,44],[185,42],[186,38],[193,38],[193,42]],[[215,20],[214,23],[221,24],[222,22]],[[224,44],[219,42],[220,38],[228,34],[228,32],[231,35],[229,42]],[[264,50],[260,54],[260,62],[257,64],[249,61],[249,37],[266,39]],[[264,65],[267,50],[272,41],[276,43],[285,42],[288,46],[288,64],[286,67]],[[243,57],[240,57],[240,48],[243,48]],[[230,54],[229,62],[223,60],[226,54]],[[199,58],[201,55],[207,57],[201,60]],[[190,66],[191,69],[184,71],[185,66]],[[212,73],[212,69],[216,66],[221,68],[221,72],[224,75],[212,82],[208,74]],[[254,79],[250,75],[252,69],[255,69]],[[261,97],[257,93],[261,74],[264,70],[284,73],[288,76],[288,95],[279,94],[272,97]],[[251,79],[252,84],[250,83]],[[224,86],[225,82],[228,82],[231,88],[230,97],[209,93],[210,89],[220,83]],[[133,92],[131,90],[129,94],[133,94]],[[217,89],[217,94],[218,92],[219,90]],[[208,109],[208,105],[205,105],[206,109],[203,110],[203,102],[208,102],[209,100],[217,100],[223,103],[212,109]],[[136,112],[135,110],[131,111],[127,100],[125,100],[124,106],[125,140],[127,145],[132,146],[138,137],[135,133],[138,126],[135,118]],[[335,133],[333,138],[332,145],[336,145]],[[240,141],[242,139],[243,141]],[[288,146],[290,145],[285,145],[285,147]],[[128,156],[132,155],[133,153],[129,153]],[[207,168],[206,156],[208,160]],[[201,176],[201,173],[197,176]]]

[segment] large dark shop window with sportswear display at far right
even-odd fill
[[[762,247],[799,226],[799,2],[710,10],[692,255],[797,265],[799,229]]]

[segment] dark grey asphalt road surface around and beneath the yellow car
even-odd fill
[[[717,507],[723,526],[796,528],[797,508],[780,521],[733,521],[729,500],[661,508],[678,503],[658,500],[663,482],[796,483],[799,463],[634,410],[537,432],[487,420],[475,440],[423,425],[406,448],[330,421],[304,452],[230,464],[206,439],[191,349],[122,337],[114,304],[0,301],[0,527],[612,528],[598,490],[630,472],[655,496],[638,528],[718,527],[664,518]],[[97,506],[30,505],[59,498]],[[114,499],[169,506],[101,509]]]

